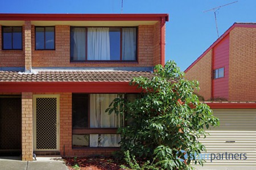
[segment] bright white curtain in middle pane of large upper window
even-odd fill
[[[110,60],[109,28],[88,28],[87,42],[88,60]]]

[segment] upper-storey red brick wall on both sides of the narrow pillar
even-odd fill
[[[1,28],[0,28],[1,31]],[[2,34],[0,45],[2,46]],[[35,50],[35,27],[31,27],[32,67],[154,67],[160,64],[160,23],[138,26],[138,62],[70,62],[69,26],[55,26],[55,50]],[[27,46],[28,47],[28,46]],[[30,47],[28,47],[30,48]],[[30,49],[29,49],[30,50]],[[0,50],[0,67],[24,67],[23,51]]]

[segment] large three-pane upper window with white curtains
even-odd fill
[[[71,27],[71,61],[135,61],[137,28]]]

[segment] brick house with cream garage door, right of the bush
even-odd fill
[[[198,94],[220,118],[220,126],[201,139],[208,153],[247,156],[207,160],[197,168],[255,169],[256,24],[234,23],[185,70],[185,76],[199,81]]]

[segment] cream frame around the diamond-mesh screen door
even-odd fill
[[[36,98],[56,98],[56,150],[36,149]],[[60,151],[60,95],[59,94],[34,94],[33,95],[33,151]]]

